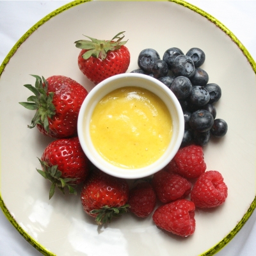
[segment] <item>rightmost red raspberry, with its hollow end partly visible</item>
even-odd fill
[[[227,185],[218,171],[208,171],[200,175],[191,191],[191,200],[201,208],[221,205],[227,196]]]

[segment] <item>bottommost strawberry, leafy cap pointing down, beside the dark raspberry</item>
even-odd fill
[[[100,225],[127,211],[129,186],[120,179],[94,169],[81,191],[84,211]]]

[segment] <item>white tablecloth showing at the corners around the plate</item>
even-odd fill
[[[38,20],[70,1],[0,1],[0,63],[19,38]],[[256,1],[188,0],[220,20],[237,36],[256,60]],[[65,33],[65,31],[63,31]],[[252,159],[255,161],[255,159]],[[256,211],[218,256],[256,255]],[[0,210],[0,256],[41,255]],[[188,255],[189,256],[189,255]]]

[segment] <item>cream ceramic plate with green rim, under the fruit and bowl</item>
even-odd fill
[[[207,170],[222,173],[228,186],[225,204],[196,209],[196,231],[180,238],[159,230],[152,218],[126,214],[97,227],[81,207],[79,196],[56,193],[36,172],[51,141],[28,129],[33,113],[20,106],[31,94],[23,84],[29,74],[63,75],[93,87],[77,67],[74,42],[89,35],[110,39],[126,31],[131,65],[139,52],[153,48],[163,56],[170,47],[206,54],[202,68],[209,83],[221,86],[217,118],[228,123],[222,140],[204,148]],[[212,255],[236,235],[255,209],[255,70],[250,54],[223,24],[184,1],[75,1],[40,20],[17,42],[1,65],[1,208],[29,243],[45,255]],[[244,90],[246,86],[246,90]]]

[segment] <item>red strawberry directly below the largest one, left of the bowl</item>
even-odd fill
[[[45,148],[39,161],[42,170],[36,170],[52,182],[50,199],[56,186],[63,194],[67,187],[70,194],[76,195],[73,187],[84,182],[89,172],[90,162],[77,137],[52,141]]]

